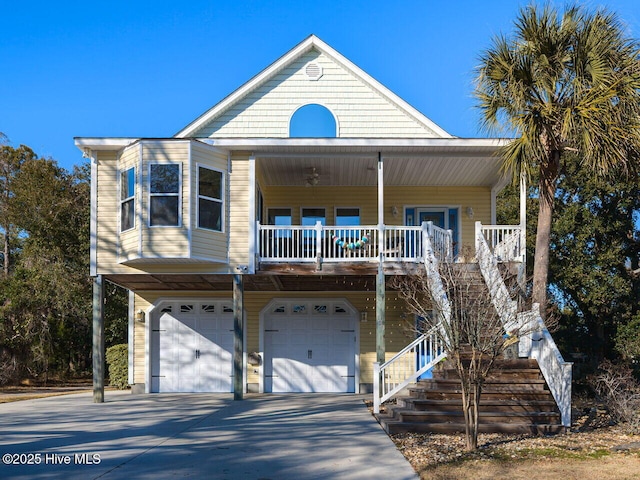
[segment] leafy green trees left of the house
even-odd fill
[[[49,372],[68,373],[87,365],[87,172],[80,168],[69,174],[55,161],[34,155],[12,180],[6,214],[23,244],[11,275],[1,284],[0,357],[3,367],[13,366],[14,376],[46,379]]]

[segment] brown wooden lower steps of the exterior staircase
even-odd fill
[[[385,404],[378,421],[389,434],[464,432],[460,380],[453,368],[434,369],[433,378],[407,388],[408,396]],[[538,362],[498,360],[480,397],[479,431],[549,434],[563,431],[560,411]]]

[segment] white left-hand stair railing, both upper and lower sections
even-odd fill
[[[438,249],[431,242],[434,230],[438,230]],[[427,280],[436,308],[446,321],[451,319],[451,305],[438,271],[438,255],[450,260],[452,255],[451,231],[434,227],[432,222],[422,224],[422,246]],[[447,246],[448,245],[448,246]],[[395,354],[382,365],[373,364],[373,412],[380,413],[380,405],[389,400],[420,375],[433,368],[446,357],[443,332],[440,324]]]

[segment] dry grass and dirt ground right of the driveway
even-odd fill
[[[462,435],[391,437],[422,479],[640,479],[640,436],[600,427],[548,437],[482,434],[466,452]]]

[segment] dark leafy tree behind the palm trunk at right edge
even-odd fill
[[[550,284],[565,342],[612,358],[616,331],[640,312],[640,180],[604,180],[568,161],[555,199]],[[565,327],[566,328],[566,327]]]

